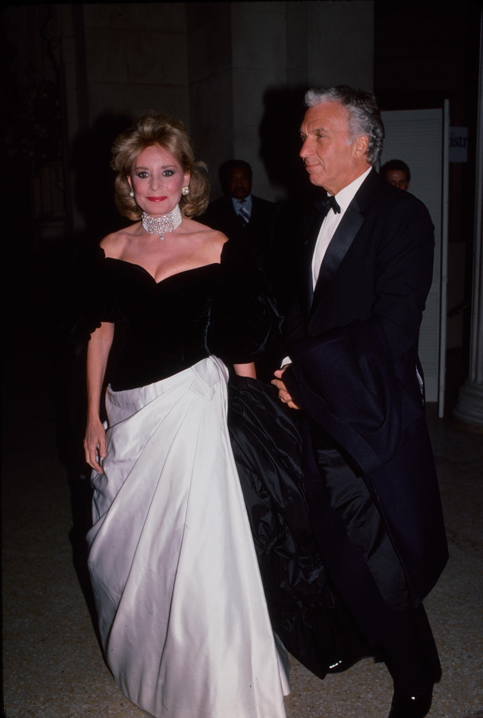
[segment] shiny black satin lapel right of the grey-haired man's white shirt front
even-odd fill
[[[316,289],[313,293],[311,313],[316,308],[324,287],[327,286],[328,282],[339,269],[341,261],[349,251],[349,247],[354,241],[354,237],[359,232],[363,222],[364,215],[360,212],[359,205],[354,198],[346,209],[344,217],[341,219],[341,223],[336,229],[323,257],[321,269],[318,273]]]

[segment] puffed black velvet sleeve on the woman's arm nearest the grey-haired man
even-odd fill
[[[270,286],[249,248],[226,242],[208,329],[211,353],[231,363],[254,361],[275,346],[281,323]]]

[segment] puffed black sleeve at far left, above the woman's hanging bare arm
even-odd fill
[[[68,291],[68,333],[76,344],[85,344],[101,322],[115,322],[116,303],[106,258],[97,243],[84,243],[73,256]]]

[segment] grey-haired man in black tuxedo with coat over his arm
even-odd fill
[[[321,200],[304,218],[288,358],[272,383],[301,410],[313,531],[367,654],[392,675],[390,718],[422,718],[441,677],[422,600],[447,560],[417,355],[433,225],[373,169],[384,139],[373,95],[341,85],[305,101],[300,157]]]

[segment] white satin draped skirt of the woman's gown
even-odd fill
[[[88,558],[106,661],[156,718],[283,718],[270,625],[211,356],[111,391]]]

